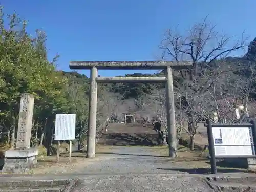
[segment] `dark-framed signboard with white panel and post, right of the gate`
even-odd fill
[[[256,124],[212,124],[208,121],[207,135],[211,173],[217,173],[216,158],[256,158]]]

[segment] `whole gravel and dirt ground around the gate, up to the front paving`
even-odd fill
[[[159,152],[160,150],[161,153]],[[148,174],[148,173],[193,173],[206,174],[210,172],[210,164],[199,154],[191,152],[179,152],[178,159],[166,157],[167,148],[164,147],[127,147],[115,146],[98,151],[96,158],[87,159],[74,157],[75,162],[42,167],[36,169],[35,174],[78,174],[78,175],[102,175],[102,174]],[[78,154],[79,155],[79,154]],[[81,155],[80,155],[81,156]],[[198,156],[198,157],[195,157]],[[63,161],[68,161],[63,159]],[[67,159],[68,157],[66,157]],[[54,164],[54,163],[53,163]],[[55,163],[56,164],[56,163]],[[245,169],[220,168],[218,171],[241,172]]]

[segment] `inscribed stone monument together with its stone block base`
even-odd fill
[[[30,148],[34,96],[22,94],[20,99],[18,131],[15,150],[7,150],[3,172],[27,172],[37,163],[38,150]]]

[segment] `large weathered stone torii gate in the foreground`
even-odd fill
[[[97,114],[97,83],[116,82],[153,82],[166,83],[166,110],[167,110],[167,131],[169,143],[169,156],[176,157],[176,126],[175,126],[175,106],[173,90],[174,70],[187,69],[190,62],[172,61],[70,61],[70,69],[90,69],[90,99],[89,99],[89,123],[87,157],[95,157],[95,137],[96,137],[96,114]],[[165,70],[165,77],[98,77],[98,69],[113,70]]]

